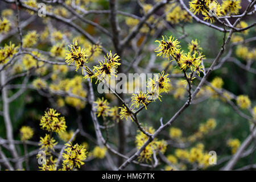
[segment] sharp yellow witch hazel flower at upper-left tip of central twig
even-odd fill
[[[73,44],[68,47],[70,50],[67,49],[65,56],[68,65],[73,64],[75,61],[76,72],[79,68],[86,68],[85,63],[88,63],[88,55],[86,55],[85,49],[77,45],[77,40],[73,40]],[[84,75],[84,72],[82,74]]]

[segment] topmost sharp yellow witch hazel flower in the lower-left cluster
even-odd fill
[[[40,126],[43,130],[60,133],[65,131],[67,126],[64,117],[59,116],[60,113],[56,113],[54,109],[48,109],[45,111],[44,116],[40,120]]]

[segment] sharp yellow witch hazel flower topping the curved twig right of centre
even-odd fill
[[[162,40],[155,41],[159,43],[159,46],[155,49],[155,52],[159,52],[156,56],[163,55],[163,57],[167,57],[168,59],[170,56],[175,57],[176,53],[180,51],[180,42],[172,36],[169,38],[166,36],[167,40],[164,40],[164,36],[162,38]]]

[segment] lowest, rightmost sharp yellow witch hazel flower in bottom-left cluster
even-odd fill
[[[84,164],[84,160],[86,159],[86,154],[88,153],[84,146],[81,144],[72,145],[71,142],[66,143],[65,146],[67,148],[64,149],[66,153],[63,153],[63,164],[68,166],[69,168],[78,167]]]

